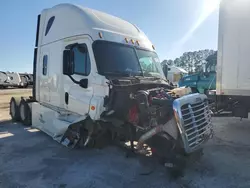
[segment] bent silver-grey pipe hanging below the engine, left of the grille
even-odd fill
[[[138,140],[137,147],[136,147],[137,151],[139,153],[142,152],[143,151],[143,144],[145,143],[145,141],[147,141],[148,139],[152,138],[154,135],[156,135],[162,131],[163,131],[163,125],[158,125],[157,127],[154,127],[150,131],[143,134]]]

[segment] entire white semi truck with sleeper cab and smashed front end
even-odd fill
[[[38,16],[35,46],[33,95],[11,99],[13,120],[71,148],[130,141],[174,167],[212,135],[207,97],[172,90],[137,26],[60,4]]]

